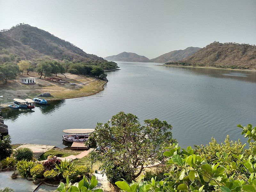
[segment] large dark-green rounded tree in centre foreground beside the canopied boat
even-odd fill
[[[107,123],[98,123],[89,138],[96,141],[100,151],[96,158],[108,180],[134,180],[147,164],[158,161],[159,150],[173,143],[172,125],[166,121],[147,119],[141,125],[138,117],[119,112]],[[111,125],[110,125],[111,124]]]

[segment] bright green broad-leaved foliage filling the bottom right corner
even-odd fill
[[[181,149],[178,144],[171,144],[164,152],[167,156],[166,179],[156,181],[133,182],[130,185],[124,181],[117,181],[116,185],[124,191],[256,191],[256,151],[255,131],[256,127],[248,124],[242,134],[248,137],[251,155],[242,152],[238,156],[231,152],[217,152],[213,161],[207,161],[205,157],[196,154],[191,147]],[[251,142],[254,140],[254,142]],[[248,151],[247,151],[248,152]],[[206,190],[206,188],[207,190]],[[205,188],[205,190],[204,190]]]

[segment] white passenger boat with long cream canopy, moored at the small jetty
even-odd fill
[[[63,130],[68,135],[62,135],[63,141],[74,142],[74,141],[87,141],[90,133],[94,132],[94,129],[66,129]]]

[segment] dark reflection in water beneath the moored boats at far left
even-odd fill
[[[26,109],[26,108],[19,108],[19,109],[11,109],[11,108],[5,108],[2,110],[3,114],[2,116],[4,119],[9,119],[12,121],[15,121],[20,114],[28,115],[30,113],[35,112],[35,109]]]

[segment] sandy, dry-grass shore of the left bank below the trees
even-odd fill
[[[33,74],[35,76],[35,74]],[[3,98],[0,98],[0,108],[6,108],[12,103],[13,98],[33,99],[36,95],[43,92],[50,92],[52,97],[45,97],[47,101],[53,100],[64,100],[79,98],[97,94],[104,90],[104,85],[108,81],[103,81],[96,79],[94,77],[88,76],[78,76],[65,74],[64,76],[58,76],[61,79],[65,79],[70,83],[76,83],[76,85],[60,85],[54,82],[45,81],[43,79],[37,79],[36,83],[44,84],[43,87],[35,85],[22,85],[20,81],[20,76],[17,77],[14,81],[8,82],[7,85],[0,85],[0,95],[3,95]]]

